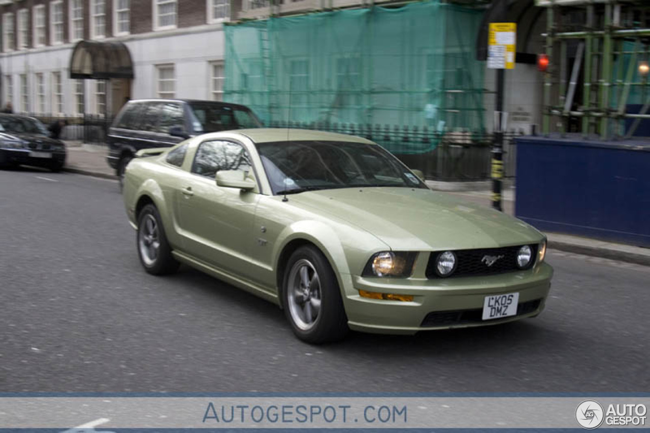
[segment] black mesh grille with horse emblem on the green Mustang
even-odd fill
[[[537,245],[529,245],[532,250],[531,267],[537,257]],[[460,276],[483,276],[515,272],[517,267],[517,251],[521,245],[504,248],[483,248],[480,250],[458,250],[456,254],[456,269],[447,278]],[[432,252],[426,266],[426,278],[441,278],[435,273],[435,261],[441,252]],[[489,265],[491,263],[491,265]]]

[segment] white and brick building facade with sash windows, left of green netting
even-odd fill
[[[3,106],[114,114],[125,98],[220,99],[229,0],[0,0]],[[81,40],[123,42],[133,80],[70,78]]]

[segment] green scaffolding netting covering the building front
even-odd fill
[[[482,14],[441,4],[363,8],[226,26],[224,99],[267,125],[483,129]],[[436,140],[408,146],[432,150]],[[390,150],[402,151],[399,143]]]

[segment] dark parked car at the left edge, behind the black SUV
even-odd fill
[[[0,114],[0,168],[19,164],[60,171],[66,163],[66,145],[50,138],[40,120],[18,114]]]

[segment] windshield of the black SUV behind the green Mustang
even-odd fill
[[[228,129],[259,128],[261,122],[252,111],[216,103],[190,103],[192,131],[209,133]]]

